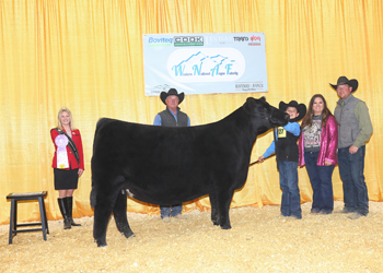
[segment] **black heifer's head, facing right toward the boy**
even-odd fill
[[[267,130],[272,127],[286,126],[289,121],[289,115],[269,105],[265,97],[259,99],[248,97],[243,105],[243,108],[245,109],[245,112],[256,117],[259,124],[267,127]]]

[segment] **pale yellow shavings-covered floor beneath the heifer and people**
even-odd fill
[[[343,202],[335,203],[335,211]],[[128,213],[135,238],[121,236],[112,218],[107,247],[93,242],[93,218],[63,230],[50,221],[42,233],[22,233],[8,245],[0,226],[0,272],[383,272],[383,203],[370,214],[280,216],[279,206],[230,210],[232,229],[213,226],[209,212],[163,223],[159,216]]]

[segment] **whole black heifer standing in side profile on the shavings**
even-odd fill
[[[211,221],[231,228],[229,206],[246,181],[257,135],[287,122],[287,114],[253,97],[205,126],[167,128],[101,119],[94,135],[91,193],[98,247],[106,246],[112,212],[118,230],[134,236],[126,194],[160,205],[209,194]]]

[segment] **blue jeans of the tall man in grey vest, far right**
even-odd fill
[[[359,147],[355,154],[350,154],[348,150],[349,147],[338,149],[345,207],[365,216],[369,213],[369,194],[364,181],[365,145]]]

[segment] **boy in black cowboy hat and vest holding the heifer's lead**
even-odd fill
[[[289,114],[290,120],[287,126],[276,130],[275,141],[266,150],[258,161],[264,162],[271,154],[277,154],[279,169],[279,182],[282,190],[280,212],[282,216],[302,218],[301,195],[298,187],[298,161],[299,150],[297,141],[301,134],[298,123],[306,115],[304,104],[291,100],[289,104],[279,103],[279,110]]]

